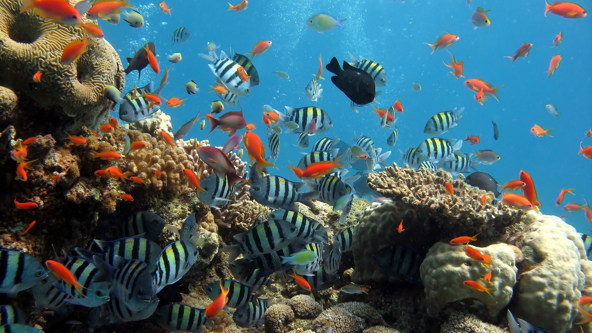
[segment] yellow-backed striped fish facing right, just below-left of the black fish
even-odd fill
[[[333,121],[329,114],[318,107],[293,108],[286,106],[286,113],[279,113],[279,124],[283,126],[289,121],[294,121],[298,125],[297,129],[286,129],[285,133],[308,133],[311,127],[310,123],[314,120],[314,133],[323,134],[333,127]]]

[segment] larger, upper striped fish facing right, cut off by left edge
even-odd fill
[[[0,249],[0,293],[29,289],[47,277],[47,271],[31,255]]]

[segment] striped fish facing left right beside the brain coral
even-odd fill
[[[159,95],[160,91],[165,88],[167,82],[163,82],[154,94]],[[150,103],[146,97],[141,97],[143,92],[152,92],[152,82],[144,87],[137,88],[134,97],[134,89],[131,89],[127,94],[121,98],[119,105],[119,119],[127,121],[128,123],[135,123],[136,121],[147,119],[160,110],[160,105]],[[152,105],[152,106],[150,106]]]

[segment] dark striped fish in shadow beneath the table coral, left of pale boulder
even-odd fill
[[[419,265],[423,257],[406,245],[394,244],[379,249],[372,255],[378,266],[392,277],[409,283],[422,283]]]

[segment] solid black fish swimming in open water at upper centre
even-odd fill
[[[336,57],[333,57],[325,68],[335,74],[335,76],[331,76],[331,82],[343,91],[353,103],[368,104],[374,101],[376,86],[371,75],[345,61],[343,69],[341,69]]]

